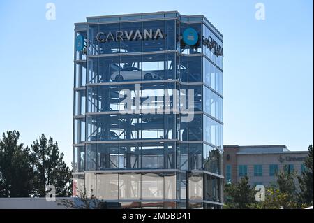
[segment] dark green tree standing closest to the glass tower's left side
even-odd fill
[[[45,196],[47,186],[54,185],[56,196],[70,196],[71,172],[63,161],[63,153],[59,154],[57,142],[45,134],[31,145],[31,162],[35,171],[35,196]]]

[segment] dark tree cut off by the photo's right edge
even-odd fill
[[[308,157],[304,161],[304,171],[298,178],[301,192],[299,201],[306,205],[313,205],[313,145],[308,146]]]

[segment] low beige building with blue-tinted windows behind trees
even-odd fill
[[[285,145],[224,145],[225,182],[248,176],[250,185],[271,185],[281,170],[301,174],[308,151],[290,151]]]

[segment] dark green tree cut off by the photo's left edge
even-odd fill
[[[7,134],[7,136],[6,136]],[[33,192],[29,148],[17,144],[20,133],[7,131],[0,141],[0,197],[25,197]]]

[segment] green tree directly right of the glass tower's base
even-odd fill
[[[254,189],[248,185],[248,177],[236,184],[225,186],[225,208],[247,209],[254,202]]]

